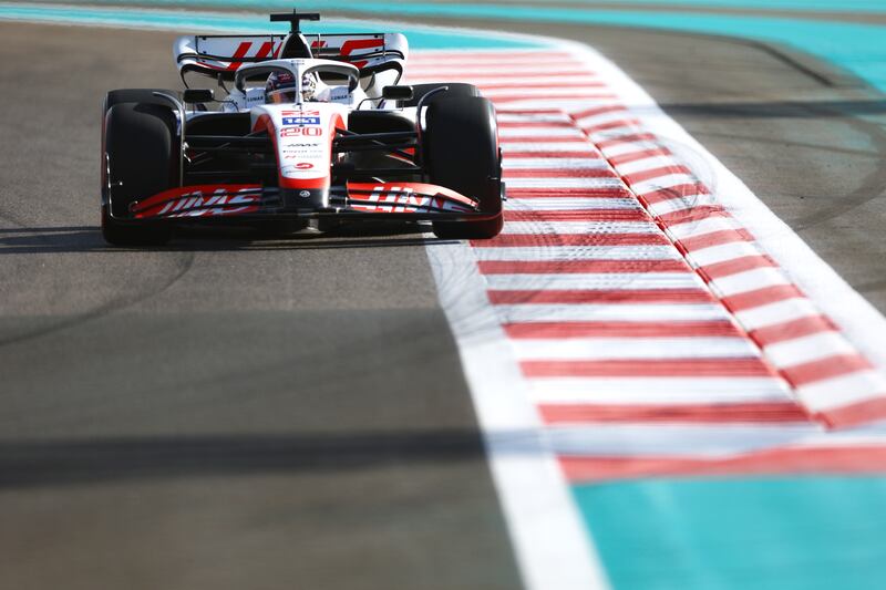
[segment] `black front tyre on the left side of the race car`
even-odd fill
[[[167,224],[132,225],[114,218],[130,217],[133,201],[177,185],[175,128],[175,115],[162,105],[122,102],[107,110],[104,145],[112,198],[102,205],[102,236],[109,244],[156,246],[172,238]]]

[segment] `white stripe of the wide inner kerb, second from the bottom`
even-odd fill
[[[530,379],[537,403],[728,404],[792,402],[776,377],[545,377]]]

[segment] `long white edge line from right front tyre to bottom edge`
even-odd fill
[[[569,486],[486,299],[465,244],[426,248],[459,344],[493,477],[526,587],[608,588]]]

